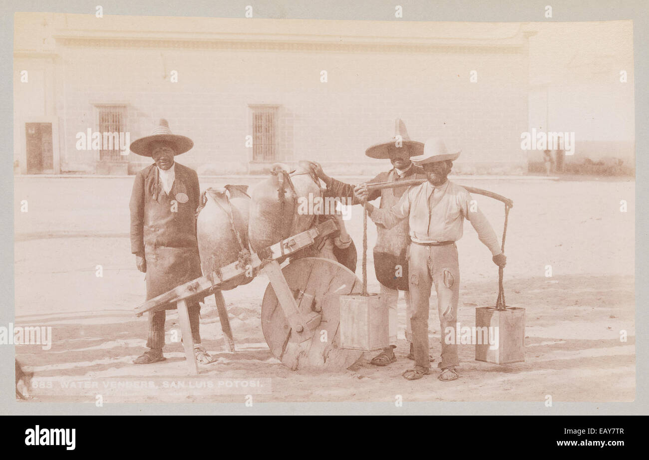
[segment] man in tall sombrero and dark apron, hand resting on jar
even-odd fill
[[[411,162],[411,156],[419,156],[424,151],[424,144],[413,141],[408,136],[406,125],[401,119],[395,120],[395,136],[389,141],[369,147],[365,155],[370,158],[389,159],[393,165],[390,171],[380,173],[369,182],[398,182],[401,180],[425,179],[424,170]],[[332,197],[354,197],[354,186],[345,184],[326,175],[318,163],[313,163],[313,170],[327,185],[327,195]],[[389,209],[397,204],[405,188],[382,189],[369,192],[361,188],[364,200],[371,201],[381,197],[381,208]],[[360,204],[354,199],[352,204]],[[382,225],[376,226],[376,246],[374,247],[374,272],[380,283],[380,292],[386,298],[389,309],[388,330],[390,346],[385,348],[370,363],[376,366],[386,366],[397,361],[394,349],[397,348],[397,301],[399,291],[404,291],[406,297],[406,339],[410,342],[410,354],[414,359],[410,330],[411,302],[408,292],[408,260],[406,252],[410,245],[408,236],[408,221],[404,220],[393,228]],[[401,275],[401,276],[397,276]]]

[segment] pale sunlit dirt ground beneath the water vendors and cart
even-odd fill
[[[543,402],[548,394],[554,401],[633,400],[635,184],[453,180],[514,201],[504,284],[508,305],[526,309],[526,350],[524,363],[494,365],[475,361],[473,345],[460,345],[461,378],[442,382],[437,372],[417,381],[401,376],[412,365],[406,359],[403,296],[396,363],[373,367],[368,363],[372,354],[366,354],[349,370],[289,370],[263,339],[263,276],[224,293],[236,352],[227,351],[214,298],[208,298],[201,335],[214,363],[201,366],[199,376],[188,376],[182,345],[173,342],[178,332],[174,311],[167,315],[167,360],[133,365],[144,350],[147,319],[133,313],[144,299],[145,284],[127,235],[132,178],[17,177],[16,325],[51,326],[53,331],[50,350],[16,346],[16,357],[34,372],[31,400],[95,402],[97,394],[104,402],[243,402],[249,394],[255,402],[394,402],[397,395],[404,402]],[[202,188],[216,184],[201,180]],[[502,204],[474,198],[500,235]],[[20,211],[21,200],[29,203],[27,213]],[[620,200],[626,200],[628,212],[620,212]],[[361,248],[360,207],[347,226]],[[375,238],[370,223],[370,248]],[[498,270],[469,223],[458,250],[458,319],[462,326],[473,326],[476,306],[495,304]],[[102,277],[96,276],[97,265]],[[552,276],[546,276],[547,265]],[[371,251],[368,266],[369,291],[378,292]],[[435,295],[431,305],[431,352],[439,357]],[[626,341],[620,341],[620,331],[626,331]]]

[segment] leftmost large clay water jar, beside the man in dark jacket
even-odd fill
[[[247,186],[225,186],[209,188],[204,192],[205,204],[196,219],[196,237],[203,274],[239,260],[242,246],[248,248],[251,198],[246,189]],[[227,291],[251,281],[251,277],[242,274],[221,284],[221,290]]]

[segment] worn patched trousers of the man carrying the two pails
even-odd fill
[[[428,311],[430,292],[435,285],[437,311],[441,326],[441,361],[438,367],[459,365],[458,345],[445,343],[447,327],[455,331],[458,317],[459,265],[455,243],[442,246],[410,245],[408,261],[410,298],[414,314],[411,318],[415,368],[430,369],[428,356]],[[455,333],[454,333],[455,335]]]

